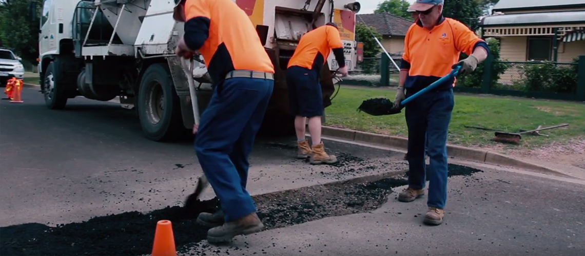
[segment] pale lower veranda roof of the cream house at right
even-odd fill
[[[585,10],[572,12],[535,12],[487,16],[481,20],[484,27],[528,24],[585,23]]]

